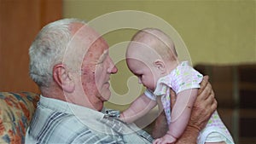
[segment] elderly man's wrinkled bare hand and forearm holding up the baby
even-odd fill
[[[175,103],[176,95],[174,92],[171,93],[172,106]],[[192,109],[189,124],[183,135],[177,140],[177,144],[196,144],[197,137],[200,130],[202,130],[207,121],[217,108],[217,101],[214,98],[212,86],[208,83],[208,77],[205,76],[201,82],[201,88],[198,90],[198,96],[195,100],[194,107]],[[152,136],[159,138],[166,134],[167,131],[165,113],[162,112],[156,119]]]

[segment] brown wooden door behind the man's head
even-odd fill
[[[39,30],[62,17],[62,0],[0,0],[0,91],[39,92],[28,49]]]

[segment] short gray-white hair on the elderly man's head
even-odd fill
[[[53,66],[61,63],[72,39],[70,26],[84,20],[63,19],[49,23],[38,33],[29,49],[30,77],[39,87],[49,87]]]

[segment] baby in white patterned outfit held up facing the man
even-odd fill
[[[131,107],[120,114],[120,119],[131,123],[158,105],[166,112],[169,130],[154,144],[174,143],[189,123],[191,109],[202,80],[201,73],[188,61],[177,60],[172,39],[158,29],[143,29],[131,39],[126,51],[126,62],[140,84],[147,89]],[[175,105],[170,104],[170,90],[177,94]],[[214,112],[206,128],[201,130],[197,143],[234,143],[229,131]]]

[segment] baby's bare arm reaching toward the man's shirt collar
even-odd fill
[[[140,95],[137,100],[131,103],[131,106],[120,114],[120,119],[126,123],[132,123],[137,118],[143,117],[152,108],[156,106],[156,101],[149,99],[146,95]]]

